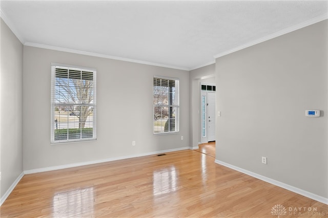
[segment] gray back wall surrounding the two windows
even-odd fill
[[[51,62],[97,69],[97,141],[50,144]],[[180,79],[179,134],[153,135],[154,75]],[[23,84],[24,170],[189,147],[188,71],[25,46]]]

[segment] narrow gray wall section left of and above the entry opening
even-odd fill
[[[190,142],[200,143],[200,82],[215,84],[215,63],[190,71]]]

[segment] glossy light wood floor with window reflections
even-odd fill
[[[328,215],[325,204],[182,150],[25,175],[1,217],[278,217],[275,205],[280,218]]]

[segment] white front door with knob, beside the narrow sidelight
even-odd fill
[[[207,140],[215,141],[215,93],[207,93]]]

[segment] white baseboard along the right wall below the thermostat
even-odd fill
[[[328,204],[328,198],[324,198],[324,197],[322,197],[320,195],[311,193],[309,191],[305,191],[305,190],[300,189],[300,188],[296,188],[294,186],[291,186],[291,185],[288,185],[288,184],[279,182],[277,180],[273,180],[273,179],[268,178],[268,177],[261,176],[261,175],[255,173],[255,172],[251,172],[249,170],[246,170],[246,169],[243,169],[243,168],[240,168],[240,167],[237,167],[237,166],[234,166],[234,165],[231,165],[231,164],[228,164],[228,163],[219,161],[219,160],[215,160],[214,162],[217,163],[217,164],[220,164],[222,166],[226,166],[226,167],[229,167],[231,169],[237,170],[237,171],[242,172],[244,174],[247,174],[247,175],[249,175],[251,177],[254,177],[256,179],[262,180],[264,182],[268,182],[268,183],[271,183],[273,185],[279,186],[281,188],[284,188],[284,189],[293,191],[295,193],[301,194],[301,195],[303,195],[305,197],[308,197],[310,199],[316,200],[316,201],[321,202],[323,204]]]

